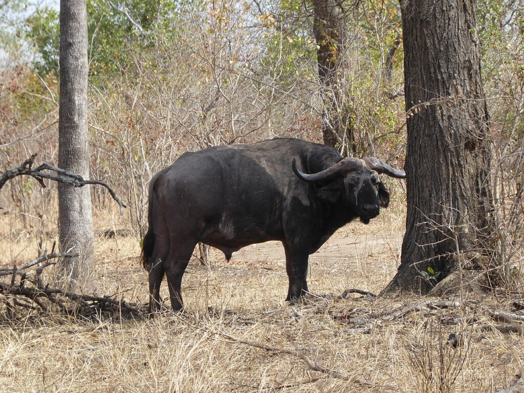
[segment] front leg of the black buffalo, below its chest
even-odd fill
[[[289,246],[287,244],[284,244],[284,250],[286,252],[286,272],[289,279],[286,300],[293,303],[309,292],[306,281],[309,253],[307,247]]]

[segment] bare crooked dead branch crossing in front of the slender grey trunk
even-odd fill
[[[59,183],[71,184],[74,185],[74,187],[83,187],[86,184],[100,184],[103,187],[105,187],[107,191],[109,191],[112,198],[116,201],[116,203],[118,203],[118,206],[120,207],[120,215],[123,214],[122,209],[126,208],[126,205],[122,202],[120,198],[118,198],[118,195],[116,195],[115,191],[106,182],[102,180],[84,180],[80,175],[76,173],[71,173],[63,169],[53,167],[46,162],[42,163],[42,165],[38,166],[37,168],[32,169],[32,165],[35,162],[35,157],[36,154],[32,155],[27,160],[25,160],[22,163],[22,165],[20,165],[18,168],[9,169],[2,173],[0,175],[0,189],[4,187],[4,184],[8,180],[14,179],[17,176],[22,175],[27,175],[35,178],[43,188],[46,188],[46,184],[43,182],[43,179],[49,179],[57,181]],[[53,171],[57,174],[42,172],[45,170]]]

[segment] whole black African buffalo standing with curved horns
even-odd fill
[[[343,159],[331,147],[291,138],[183,154],[149,184],[142,252],[149,312],[158,309],[164,274],[173,310],[182,309],[182,275],[198,242],[230,259],[249,244],[281,241],[286,300],[296,300],[308,292],[308,255],[344,224],[356,217],[367,224],[387,207],[379,173],[406,177],[377,158]]]

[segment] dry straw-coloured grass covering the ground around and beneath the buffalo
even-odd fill
[[[335,295],[347,288],[380,291],[396,271],[403,220],[392,209],[368,226],[352,223],[337,232],[311,258],[310,289]],[[113,213],[96,221],[99,232],[118,225]],[[16,217],[2,217],[2,263],[36,255],[36,226],[23,228]],[[44,243],[49,248],[51,240]],[[477,340],[482,332],[475,326],[493,323],[481,305],[507,308],[508,298],[496,303],[470,294],[459,299],[459,308],[413,311],[376,323],[369,334],[354,333],[353,316],[370,318],[421,299],[350,295],[290,307],[283,301],[283,250],[265,247],[252,246],[246,258],[234,255],[230,264],[214,253],[211,268],[192,261],[182,283],[183,314],[139,321],[56,315],[4,320],[0,391],[494,392],[524,367],[520,335],[489,331]],[[99,291],[145,303],[138,239],[99,236],[96,249]],[[467,325],[472,317],[475,323]],[[447,343],[451,333],[466,332],[457,348]],[[304,359],[333,373],[312,370]]]

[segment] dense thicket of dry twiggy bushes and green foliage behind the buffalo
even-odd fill
[[[316,3],[88,1],[91,176],[106,180],[129,201],[127,225],[137,239],[145,223],[147,181],[182,152],[275,136],[323,140],[325,97],[334,91],[321,83],[319,51],[326,55],[327,67],[333,65],[330,56],[343,50],[344,61],[337,65],[340,74],[336,74],[343,99],[334,112],[351,126],[353,150],[397,167],[406,158],[406,109],[412,123],[436,110],[434,101],[445,102],[450,117],[462,103],[474,105],[478,96],[466,96],[464,88],[460,94],[470,101],[457,96],[454,102],[460,84],[448,89],[449,95],[438,86],[423,84],[434,91],[410,95],[405,107],[401,43],[405,45],[408,37],[401,29],[399,3],[336,2],[345,27],[344,34],[336,36],[343,37],[340,42],[335,36],[322,40],[315,35],[315,15],[317,23],[320,16],[318,8],[315,13]],[[57,162],[58,12],[41,8],[27,18],[17,13],[24,5],[25,0],[0,4],[5,16],[0,18],[3,170],[23,162],[28,151]],[[475,8],[475,46],[481,48],[476,53],[481,56],[491,114],[483,136],[493,153],[489,178],[494,182],[497,228],[492,240],[506,273],[522,260],[524,249],[522,9],[521,0],[479,0]],[[22,23],[16,23],[17,15]],[[430,18],[430,9],[419,17]],[[461,60],[461,69],[467,61]],[[482,123],[483,116],[476,113],[472,122]],[[408,165],[416,163],[408,161]],[[399,185],[393,200],[399,200],[403,186],[395,184]],[[53,217],[53,192],[23,180],[6,187],[1,205],[25,213],[25,225],[44,225],[45,220],[34,218],[39,214],[44,219]],[[111,209],[104,191],[93,190],[92,198],[102,210]],[[435,206],[441,202],[435,201]],[[475,255],[460,257],[464,257],[459,258],[461,263],[468,264]],[[441,265],[433,268],[446,270]],[[417,279],[435,281],[416,274]]]

